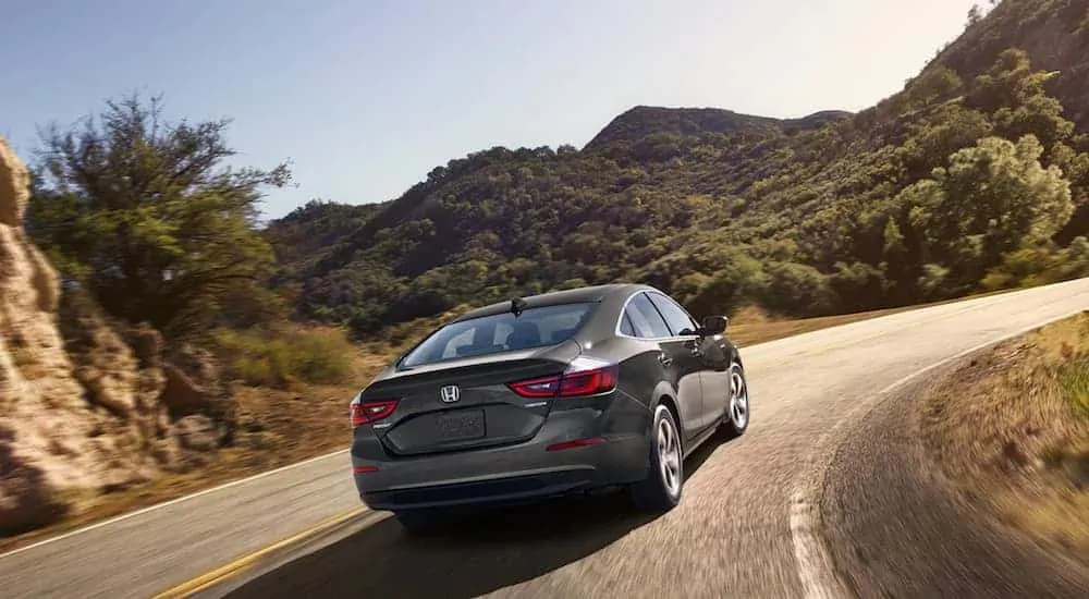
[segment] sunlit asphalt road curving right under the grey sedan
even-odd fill
[[[1068,564],[1002,545],[955,505],[929,510],[944,496],[913,491],[926,473],[911,454],[890,459],[910,445],[896,436],[909,404],[884,391],[1080,309],[1089,279],[743,349],[749,431],[695,455],[684,500],[664,516],[633,514],[622,498],[556,502],[435,539],[384,518],[231,596],[1076,597],[1089,577]],[[348,467],[334,454],[0,557],[0,597],[152,596],[357,509]],[[1027,560],[1016,575],[1012,559]]]

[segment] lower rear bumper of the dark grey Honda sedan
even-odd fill
[[[372,510],[494,505],[562,496],[646,477],[650,441],[638,433],[560,451],[541,443],[374,464],[355,475]],[[353,455],[353,464],[364,461]],[[462,475],[462,476],[458,476]]]

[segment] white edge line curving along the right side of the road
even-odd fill
[[[998,339],[987,341],[969,347],[956,355],[935,362],[922,369],[907,375],[893,382],[873,395],[869,401],[859,402],[843,418],[829,429],[817,441],[818,454],[828,455],[834,449],[828,447],[847,423],[854,421],[854,417],[861,411],[872,408],[878,404],[878,400],[892,393],[896,389],[904,387],[911,380],[926,375],[932,370],[941,368],[950,363],[967,357],[976,352],[980,352],[993,345],[1028,334],[1041,327],[1065,320],[1086,311],[1086,308],[1072,310],[1062,316],[1048,318],[1035,325],[1024,327],[1012,333],[1004,334]],[[794,541],[794,559],[797,561],[798,578],[802,580],[802,589],[806,599],[834,599],[847,598],[852,594],[845,588],[837,577],[832,560],[828,554],[828,548],[820,538],[820,499],[821,488],[827,473],[820,473],[817,477],[798,484],[791,496],[791,538]]]

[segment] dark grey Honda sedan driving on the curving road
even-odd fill
[[[426,528],[463,508],[625,488],[681,501],[684,460],[745,432],[727,320],[647,285],[515,298],[442,325],[351,402],[363,501]]]

